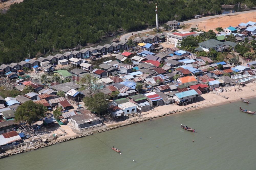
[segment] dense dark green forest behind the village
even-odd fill
[[[222,4],[256,0],[24,0],[0,14],[0,63],[19,62],[36,53],[95,43],[111,31],[133,31],[158,20],[184,20],[220,13]]]

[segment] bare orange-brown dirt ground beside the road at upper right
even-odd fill
[[[219,26],[222,28],[227,28],[229,26],[236,27],[241,22],[248,21],[256,22],[255,11],[247,11],[247,13],[233,13],[226,16],[215,16],[215,18],[205,17],[204,19],[203,17],[200,18],[200,20],[185,21],[185,24],[192,24],[191,27],[193,28],[196,28],[196,25],[198,25],[198,30],[208,31],[210,29],[214,30]],[[186,30],[190,30],[190,28]]]

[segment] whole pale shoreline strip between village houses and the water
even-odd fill
[[[35,145],[29,149],[15,148],[13,150],[6,151],[5,153],[0,154],[0,159],[4,158],[4,157],[15,155],[18,153],[23,153],[23,152],[27,152],[27,151],[31,151],[31,150],[35,150],[35,149],[39,149],[39,148],[44,148],[44,147],[51,146],[53,144],[57,144],[60,142],[65,142],[65,141],[73,140],[76,138],[93,135],[94,133],[100,133],[100,132],[116,129],[116,128],[119,128],[122,126],[128,126],[128,125],[132,125],[135,123],[144,122],[146,120],[150,120],[150,119],[154,119],[154,118],[160,118],[160,117],[169,116],[172,114],[180,114],[183,112],[185,113],[185,112],[189,112],[189,111],[193,111],[193,110],[197,110],[197,109],[201,109],[201,108],[206,108],[206,107],[210,107],[210,106],[225,105],[227,103],[239,101],[241,97],[244,99],[249,99],[249,98],[253,98],[254,96],[256,96],[255,83],[249,83],[249,84],[247,84],[246,87],[243,87],[241,90],[236,88],[237,89],[236,92],[234,91],[235,88],[236,88],[236,86],[226,88],[227,91],[222,92],[222,93],[215,91],[215,92],[201,94],[200,101],[198,101],[198,102],[195,101],[194,103],[188,104],[187,106],[178,106],[175,103],[169,104],[169,105],[158,106],[158,107],[155,107],[154,109],[152,109],[151,111],[143,112],[139,116],[135,116],[135,117],[126,119],[122,122],[104,123],[105,125],[101,127],[102,129],[101,128],[96,128],[96,129],[90,128],[89,130],[81,131],[80,133],[76,133],[76,132],[72,133],[71,132],[72,134],[70,133],[66,137],[63,136],[61,138],[56,138],[55,140],[52,140],[48,143],[44,143],[44,142],[35,143]],[[226,98],[228,98],[228,99],[226,99]],[[56,131],[59,131],[59,129]]]

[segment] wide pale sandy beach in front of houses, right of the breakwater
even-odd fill
[[[234,89],[236,89],[236,92]],[[226,102],[229,103],[229,102],[237,101],[237,100],[240,100],[240,98],[249,99],[256,95],[255,83],[249,83],[245,87],[240,87],[240,90],[237,89],[236,86],[232,86],[226,89],[224,88],[224,91],[222,93],[219,92],[218,90],[219,89],[217,88],[217,91],[211,91],[205,94],[201,94],[201,97],[199,98],[198,101],[196,100],[195,102],[188,104],[186,106],[178,106],[175,103],[158,106],[151,111],[143,112],[140,117],[138,116],[132,117],[128,120],[121,121],[121,122],[110,122],[110,123],[104,122],[104,123],[106,124],[107,127],[113,127],[121,124],[126,124],[132,120],[150,118],[150,117],[162,115],[165,113],[168,114],[169,112],[172,112],[172,111],[176,111],[174,114],[180,114],[182,112],[188,112],[188,111],[199,109],[202,107],[210,107],[214,105],[225,104]],[[224,96],[226,98],[228,97],[228,99],[224,98]]]

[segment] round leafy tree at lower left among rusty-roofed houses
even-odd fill
[[[46,107],[42,104],[37,104],[32,100],[26,101],[18,106],[15,112],[15,121],[22,121],[31,125],[33,121],[38,121],[40,118],[45,117]]]

